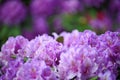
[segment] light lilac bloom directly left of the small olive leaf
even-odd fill
[[[39,58],[44,60],[47,65],[56,65],[56,61],[59,58],[62,51],[62,44],[58,43],[52,37],[48,35],[38,36],[31,40],[30,43],[21,50],[21,53],[30,58]]]

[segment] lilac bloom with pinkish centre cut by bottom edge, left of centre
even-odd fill
[[[18,70],[17,77],[14,80],[42,79],[41,73],[45,66],[43,61],[28,61]]]

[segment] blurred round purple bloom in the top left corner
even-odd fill
[[[1,21],[14,25],[21,23],[26,16],[26,7],[20,1],[7,1],[1,7]]]

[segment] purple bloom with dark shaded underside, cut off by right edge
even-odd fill
[[[105,48],[110,48],[109,57],[112,62],[119,62],[120,59],[120,33],[119,32],[106,32],[104,35],[101,35],[100,37],[103,37],[101,42],[104,43]],[[119,64],[120,65],[120,64]]]

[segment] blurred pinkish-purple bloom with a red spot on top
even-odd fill
[[[99,31],[107,31],[107,30],[111,30],[112,28],[112,21],[111,19],[104,13],[97,13],[97,18],[95,19],[91,19],[89,21],[90,26]]]

